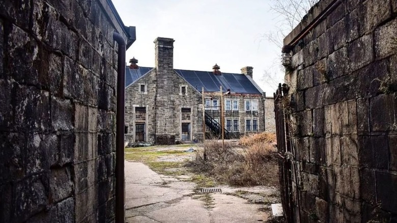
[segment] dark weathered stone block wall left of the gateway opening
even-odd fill
[[[114,219],[117,53],[106,1],[0,2],[0,221]]]

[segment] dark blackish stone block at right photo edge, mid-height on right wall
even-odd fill
[[[370,99],[370,127],[372,131],[390,131],[395,129],[394,107],[397,99],[394,95],[379,95]]]

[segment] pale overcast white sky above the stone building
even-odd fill
[[[127,62],[154,66],[154,39],[173,38],[174,68],[241,73],[253,67],[253,79],[267,96],[276,86],[263,81],[265,70],[283,73],[278,63],[281,50],[263,35],[275,29],[276,15],[270,0],[112,0],[123,22],[136,26],[136,41],[127,50]]]

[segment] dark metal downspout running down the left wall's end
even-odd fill
[[[124,112],[125,112],[125,51],[123,37],[116,31],[113,39],[118,43],[117,60],[117,107],[116,107],[116,205],[115,220],[125,222],[125,179],[124,179]]]

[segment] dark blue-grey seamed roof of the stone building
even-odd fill
[[[139,67],[139,69],[130,69],[126,67],[126,87],[135,82],[139,77],[150,71],[151,67]],[[178,70],[174,69],[180,76],[182,76],[193,88],[198,91],[216,92],[219,91],[219,86],[222,86],[223,92],[228,89],[232,93],[241,94],[262,94],[258,88],[248,79],[246,75],[237,73],[222,73],[215,75],[209,71],[194,71],[194,70]]]

